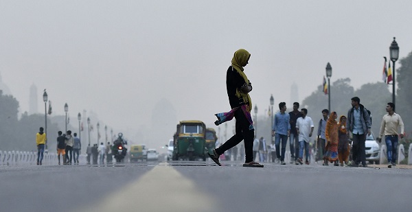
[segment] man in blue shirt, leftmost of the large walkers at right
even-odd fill
[[[290,134],[290,116],[286,111],[286,103],[279,103],[279,113],[275,114],[275,120],[273,121],[272,136],[275,137],[276,157],[277,161],[280,160],[280,164],[285,163],[286,143],[288,142],[288,136]],[[282,140],[282,154],[280,154],[280,141]]]

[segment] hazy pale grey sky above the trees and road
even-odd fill
[[[0,1],[0,73],[22,112],[36,84],[39,112],[47,89],[54,115],[67,102],[117,130],[150,128],[161,99],[213,123],[237,49],[263,115],[271,93],[291,108],[293,82],[299,102],[315,91],[328,62],[332,82],[381,81],[393,36],[412,51],[411,20],[412,1]]]

